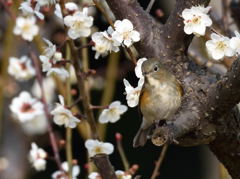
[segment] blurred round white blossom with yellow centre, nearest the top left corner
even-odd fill
[[[24,40],[32,41],[34,36],[39,32],[39,28],[36,25],[36,18],[31,17],[17,17],[16,25],[13,29],[15,35],[21,35]]]

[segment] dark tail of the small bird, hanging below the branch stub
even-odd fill
[[[144,146],[147,142],[147,137],[151,131],[151,127],[148,127],[146,129],[140,128],[137,132],[136,136],[133,139],[133,147],[139,147]]]

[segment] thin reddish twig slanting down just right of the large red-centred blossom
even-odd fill
[[[42,77],[42,73],[41,73],[41,71],[39,69],[38,58],[37,58],[37,56],[33,52],[30,52],[30,56],[31,56],[31,59],[33,61],[33,64],[34,64],[34,67],[35,67],[35,70],[36,70],[37,81],[39,83],[39,86],[40,86],[40,89],[41,89],[41,94],[42,94],[41,101],[42,101],[42,103],[44,105],[44,112],[45,112],[46,118],[48,119],[47,130],[48,130],[50,143],[51,143],[51,146],[52,146],[52,149],[53,149],[53,153],[54,153],[54,159],[55,159],[55,162],[56,162],[58,168],[60,170],[62,170],[61,160],[60,160],[60,156],[59,156],[59,149],[58,149],[58,146],[57,146],[57,140],[56,140],[56,137],[55,137],[55,135],[53,133],[52,126],[50,124],[51,114],[50,114],[50,112],[48,110],[48,105],[47,105],[45,92],[44,92],[44,88],[43,88],[43,82],[42,82],[43,81],[43,77]]]

